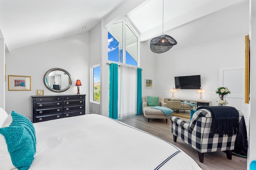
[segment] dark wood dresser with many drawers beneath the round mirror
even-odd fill
[[[31,96],[33,123],[85,115],[85,96]]]

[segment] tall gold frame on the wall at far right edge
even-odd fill
[[[244,103],[249,104],[250,100],[250,39],[245,36],[245,96]]]

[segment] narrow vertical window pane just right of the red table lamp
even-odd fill
[[[93,68],[93,101],[100,102],[100,66]]]

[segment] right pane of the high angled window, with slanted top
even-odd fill
[[[138,37],[126,25],[126,64],[138,65]]]

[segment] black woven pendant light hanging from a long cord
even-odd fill
[[[150,49],[154,53],[164,53],[177,44],[177,41],[169,35],[164,35],[164,0],[163,0],[163,35],[154,37],[150,41]]]

